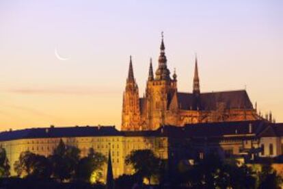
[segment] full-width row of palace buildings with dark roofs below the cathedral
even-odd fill
[[[81,156],[93,148],[108,157],[111,147],[113,177],[117,178],[134,172],[124,160],[138,149],[151,149],[170,164],[200,160],[212,151],[221,157],[251,155],[254,151],[259,157],[276,157],[283,153],[283,124],[266,120],[198,123],[184,127],[164,125],[154,131],[118,131],[113,126],[51,126],[0,133],[0,145],[7,151],[12,175],[16,175],[14,162],[21,152],[51,155],[60,139],[66,145],[78,147]],[[103,167],[102,181],[106,179],[106,171],[107,164]]]

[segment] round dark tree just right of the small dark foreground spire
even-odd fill
[[[139,177],[146,177],[149,184],[150,178],[159,174],[162,164],[161,159],[156,157],[149,149],[132,151],[130,155],[126,156],[125,163],[131,164]]]

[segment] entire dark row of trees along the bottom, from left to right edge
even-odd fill
[[[49,157],[25,151],[21,153],[14,169],[19,177],[33,179],[55,178],[59,181],[82,181],[90,183],[99,177],[106,157],[90,149],[86,157],[80,157],[77,147],[66,146],[60,140]],[[262,166],[256,172],[245,164],[239,166],[235,160],[221,160],[215,154],[207,155],[196,164],[179,162],[169,169],[169,162],[162,160],[150,150],[132,151],[125,164],[133,166],[133,175],[122,175],[115,181],[116,188],[142,186],[144,178],[149,184],[159,183],[161,188],[279,188],[282,178],[271,168]],[[7,154],[0,147],[0,177],[10,176]],[[157,182],[156,182],[157,181]]]

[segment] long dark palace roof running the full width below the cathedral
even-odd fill
[[[251,130],[250,130],[251,129]],[[184,127],[164,125],[153,131],[118,131],[113,126],[42,127],[3,131],[0,141],[24,138],[64,138],[83,136],[147,136],[169,138],[245,138],[283,136],[283,123],[268,121],[235,121],[188,124]]]

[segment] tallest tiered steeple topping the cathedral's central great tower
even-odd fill
[[[167,58],[165,56],[165,45],[163,40],[163,31],[161,33],[161,45],[160,45],[160,55],[159,55],[159,64],[158,69],[155,73],[157,80],[170,80],[170,71],[167,68]]]

